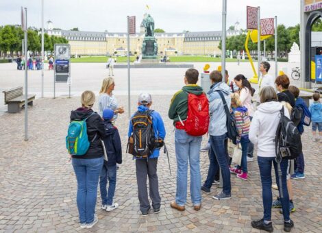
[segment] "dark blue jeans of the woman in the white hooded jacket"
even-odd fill
[[[258,167],[260,167],[260,179],[262,180],[262,199],[264,206],[264,220],[271,221],[272,214],[272,162],[275,170],[275,177],[278,189],[280,191],[280,179],[277,171],[277,162],[275,157],[260,157],[258,156]],[[280,195],[280,201],[282,202],[284,221],[290,220],[290,200],[288,197],[287,185],[286,185],[286,173],[287,173],[288,160],[282,160],[282,190],[283,198]]]

